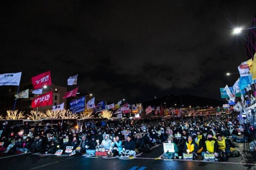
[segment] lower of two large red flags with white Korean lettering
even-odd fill
[[[47,92],[32,100],[32,108],[52,105],[52,92]]]

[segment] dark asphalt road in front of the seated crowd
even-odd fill
[[[255,158],[230,158],[225,163],[203,161],[181,161],[158,159],[163,153],[163,146],[154,147],[151,153],[143,153],[134,159],[105,159],[102,157],[85,158],[83,156],[44,156],[39,154],[0,153],[1,170],[244,170],[256,169]],[[232,163],[233,162],[233,163]]]

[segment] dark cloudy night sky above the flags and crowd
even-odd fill
[[[51,70],[96,100],[141,102],[171,93],[220,99],[247,60],[256,0],[9,0],[0,3],[0,74]]]

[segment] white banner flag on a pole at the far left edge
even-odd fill
[[[19,86],[21,72],[0,75],[0,86]]]

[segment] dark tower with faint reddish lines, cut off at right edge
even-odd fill
[[[253,18],[253,23],[251,27],[256,27],[256,15]],[[246,55],[247,57],[253,58],[256,52],[256,28],[250,29],[249,34],[245,43]]]

